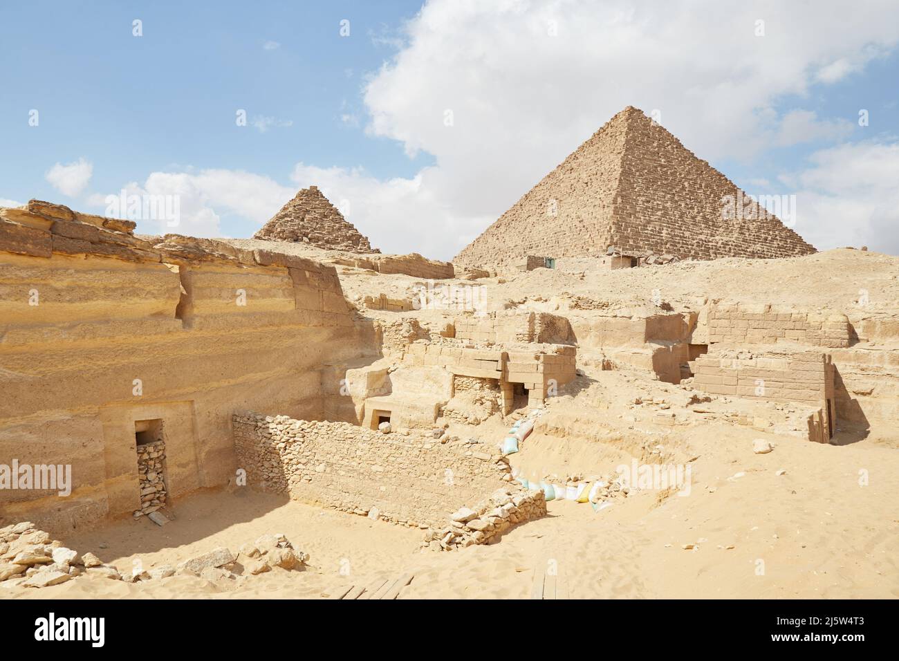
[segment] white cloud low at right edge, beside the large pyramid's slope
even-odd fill
[[[797,188],[796,230],[819,250],[869,246],[899,255],[899,142],[815,152],[782,181]]]

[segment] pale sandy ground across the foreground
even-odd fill
[[[219,545],[236,550],[263,532],[282,532],[310,554],[306,570],[215,583],[172,576],[128,585],[81,576],[41,590],[0,584],[0,597],[315,598],[330,586],[368,585],[411,571],[414,580],[401,598],[526,598],[535,569],[555,571],[573,598],[899,597],[894,449],[771,435],[775,450],[757,455],[751,449],[760,437],[755,430],[713,422],[690,428],[688,439],[683,433],[660,432],[654,441],[679,456],[695,455],[689,495],[648,489],[599,512],[552,501],[547,517],[489,546],[420,550],[420,531],[275,496],[215,491],[182,499],[177,519],[164,528],[126,520],[63,541],[129,571],[136,559],[145,569],[175,564]],[[626,456],[619,442],[586,443],[535,434],[513,455],[513,465],[556,465],[561,455],[573,470],[604,472]],[[578,451],[566,451],[565,444]],[[777,475],[781,469],[786,473]],[[867,486],[859,484],[859,471],[867,471]]]

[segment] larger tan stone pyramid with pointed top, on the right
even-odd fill
[[[525,255],[622,251],[681,259],[814,253],[708,162],[632,106],[515,202],[466,246],[458,264],[510,264]],[[742,213],[723,212],[725,196]],[[733,208],[732,208],[733,210]]]

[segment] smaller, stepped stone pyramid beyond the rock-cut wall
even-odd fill
[[[297,193],[253,235],[268,241],[301,242],[352,253],[377,253],[359,230],[343,218],[317,186]]]

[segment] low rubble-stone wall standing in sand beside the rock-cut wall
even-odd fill
[[[508,461],[480,444],[283,415],[233,425],[249,487],[409,527],[440,527],[512,481]]]

